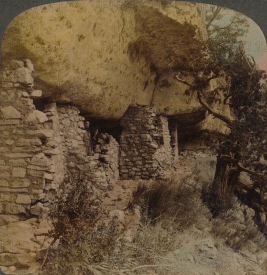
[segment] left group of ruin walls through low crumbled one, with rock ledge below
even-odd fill
[[[118,144],[102,133],[97,153],[86,156],[78,109],[50,102],[37,110],[33,99],[41,91],[34,90],[29,60],[9,60],[1,70],[0,265],[29,272],[48,246],[49,203],[68,168],[81,168],[95,191],[103,190],[118,178]]]

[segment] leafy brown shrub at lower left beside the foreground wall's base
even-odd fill
[[[113,253],[119,234],[116,216],[100,223],[100,200],[79,174],[60,185],[58,199],[50,212],[58,244],[49,250],[44,274],[92,274],[91,264]]]

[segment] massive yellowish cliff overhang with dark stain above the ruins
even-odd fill
[[[132,104],[166,115],[199,110],[196,95],[185,94],[171,72],[186,67],[197,38],[206,37],[200,5],[118,3],[70,1],[22,12],[5,32],[1,57],[30,59],[42,97],[90,117],[118,119]]]

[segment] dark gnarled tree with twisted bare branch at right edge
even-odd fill
[[[267,214],[266,180],[266,72],[257,68],[254,58],[245,54],[241,36],[247,33],[247,20],[234,13],[228,23],[223,22],[221,7],[207,9],[208,41],[198,60],[190,63],[194,81],[176,79],[197,93],[199,102],[215,117],[224,121],[230,132],[222,142],[217,158],[213,191],[217,204],[235,193],[256,212],[262,231]],[[196,62],[195,62],[196,61]],[[228,104],[231,116],[212,108],[204,96],[210,80],[223,76],[229,85],[223,90],[223,104]],[[219,89],[214,89],[214,95]],[[252,185],[243,184],[239,175],[251,175]]]

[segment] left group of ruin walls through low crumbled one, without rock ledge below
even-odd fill
[[[63,179],[70,155],[90,163],[82,168],[95,182],[100,177],[100,182],[118,177],[114,138],[100,135],[99,153],[90,158],[82,141],[84,117],[76,107],[51,102],[42,111],[35,109],[32,98],[41,96],[41,91],[33,89],[32,70],[29,60],[12,60],[4,68],[0,103],[2,214],[39,215],[47,206],[47,193],[56,190]]]

